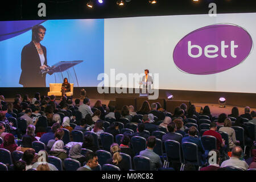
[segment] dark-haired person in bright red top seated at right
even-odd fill
[[[217,146],[217,150],[221,150],[221,148],[225,147],[225,140],[222,139],[221,134],[216,132],[217,130],[217,124],[216,122],[211,122],[210,123],[210,130],[207,130],[203,133],[204,135],[210,135],[216,138],[216,146]],[[228,147],[228,146],[227,146]]]

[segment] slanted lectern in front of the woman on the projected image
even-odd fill
[[[52,67],[42,69],[42,73],[48,73],[49,75],[54,74],[55,83],[63,82],[64,78],[67,77],[69,82],[74,82],[74,83],[76,82],[77,86],[79,86],[79,82],[76,76],[76,71],[74,68],[75,65],[79,63],[82,63],[82,60],[59,61],[58,63],[52,65]],[[71,72],[69,68],[73,68],[73,72]]]

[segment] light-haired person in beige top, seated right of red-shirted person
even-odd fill
[[[232,122],[229,118],[226,118],[224,121],[224,127],[221,127],[219,131],[226,132],[229,135],[229,149],[232,149],[240,144],[236,139],[236,132],[232,129]]]

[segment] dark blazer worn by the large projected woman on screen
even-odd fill
[[[46,47],[42,46],[44,64],[47,65]],[[34,43],[31,41],[23,47],[21,53],[21,69],[19,84],[24,87],[46,87],[46,73],[41,73],[41,61]]]

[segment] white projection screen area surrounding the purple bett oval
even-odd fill
[[[241,64],[212,75],[181,72],[173,60],[174,48],[185,35],[212,24],[236,24],[255,42],[255,19],[256,13],[105,19],[104,72],[110,75],[110,69],[115,69],[115,74],[128,75],[149,69],[153,77],[159,73],[159,89],[256,93],[254,49]]]

